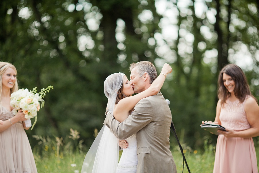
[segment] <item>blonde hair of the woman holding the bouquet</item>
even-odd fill
[[[1,97],[2,97],[2,89],[3,89],[3,74],[5,73],[5,71],[8,68],[12,68],[15,73],[17,74],[17,70],[14,67],[14,65],[10,64],[10,63],[6,63],[6,62],[1,62],[0,61],[0,106],[2,107],[2,103],[1,103]],[[13,88],[10,89],[11,94],[15,91],[18,90],[18,83],[17,80],[15,81],[15,84],[13,86]]]

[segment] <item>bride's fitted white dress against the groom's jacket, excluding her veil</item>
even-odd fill
[[[136,133],[126,139],[129,146],[123,149],[121,159],[117,167],[117,173],[136,173],[138,165],[137,135]]]

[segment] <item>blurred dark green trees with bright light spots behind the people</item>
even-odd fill
[[[105,118],[104,80],[129,76],[132,62],[151,61],[158,73],[172,66],[161,91],[192,148],[216,142],[199,125],[215,118],[224,65],[239,65],[259,98],[256,0],[1,0],[0,13],[0,60],[16,66],[20,88],[54,86],[26,131],[32,146],[35,134],[65,137],[72,128],[89,147]]]

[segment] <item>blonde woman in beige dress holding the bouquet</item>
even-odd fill
[[[14,65],[0,62],[0,172],[37,173],[31,145],[24,131],[22,110],[12,114],[10,96],[18,90]]]

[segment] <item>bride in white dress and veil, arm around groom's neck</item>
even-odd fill
[[[104,81],[104,93],[108,97],[107,111],[110,111],[115,119],[121,123],[131,114],[138,101],[156,95],[160,91],[165,76],[171,72],[170,65],[164,64],[160,75],[151,86],[134,96],[131,96],[134,94],[132,82],[127,79],[125,74],[111,74]],[[138,164],[136,134],[126,140],[128,147],[123,149],[118,163],[118,140],[104,125],[85,156],[81,173],[136,173]]]

